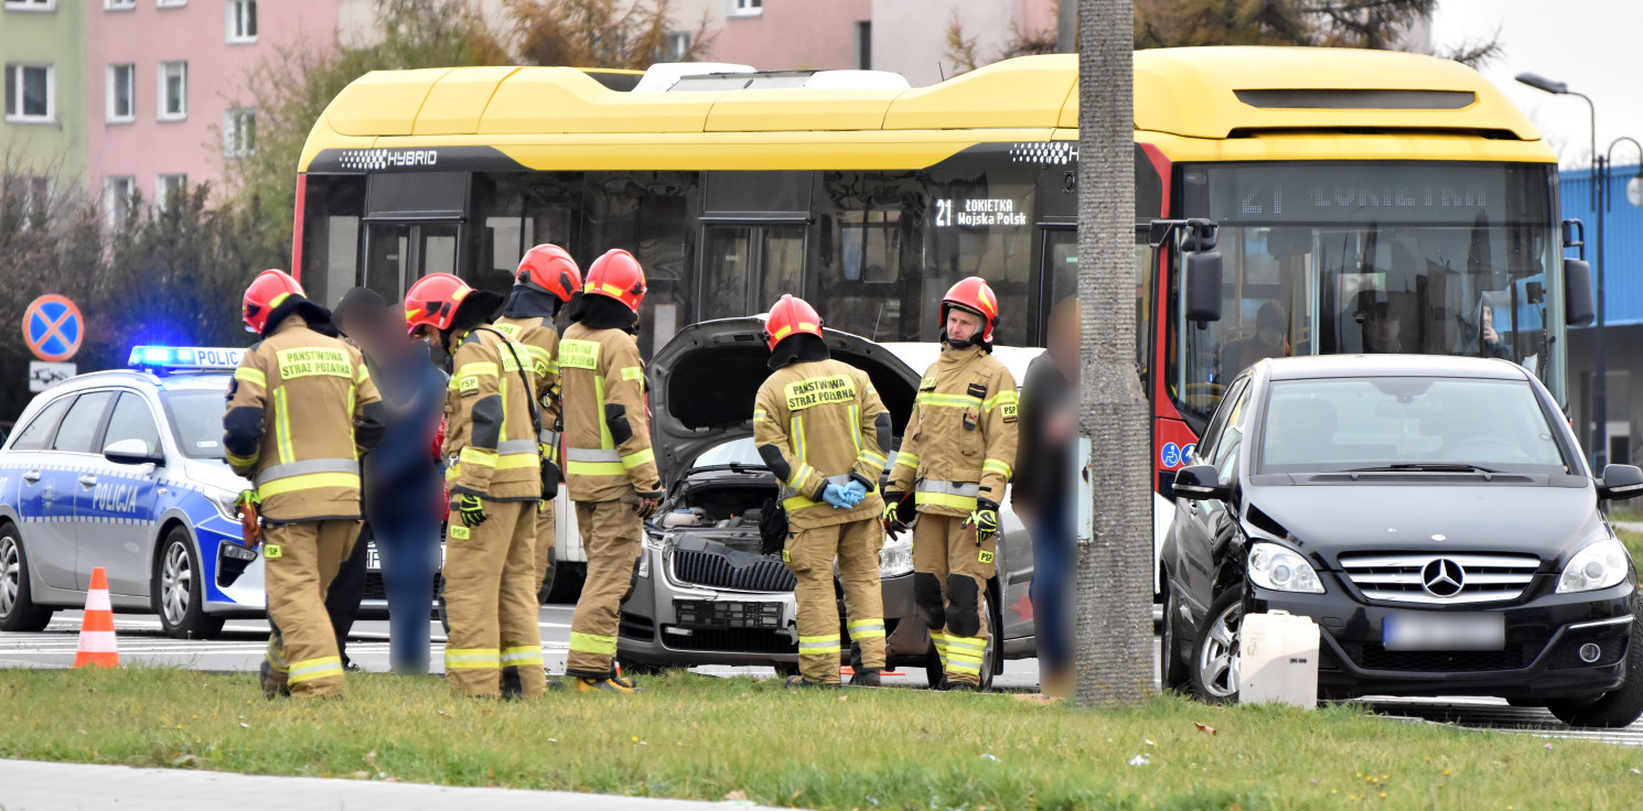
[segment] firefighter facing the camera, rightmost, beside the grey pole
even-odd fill
[[[941,356],[918,383],[884,488],[891,534],[917,515],[914,599],[953,690],[981,688],[999,502],[1015,460],[1015,379],[992,358],[997,325],[999,299],[986,281],[971,276],[946,291]]]

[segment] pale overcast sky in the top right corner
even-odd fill
[[[1643,141],[1643,2],[1638,0],[1438,0],[1433,44],[1487,39],[1500,28],[1505,54],[1482,67],[1484,77],[1505,90],[1528,113],[1564,166],[1587,166],[1587,107],[1572,95],[1548,95],[1515,82],[1535,72],[1597,105],[1597,151],[1617,136]],[[1615,164],[1636,164],[1638,153],[1622,143]]]

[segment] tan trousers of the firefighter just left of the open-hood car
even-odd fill
[[[614,673],[618,612],[633,591],[644,520],[626,501],[578,501],[577,524],[588,552],[588,580],[570,619],[565,673],[606,678]]]

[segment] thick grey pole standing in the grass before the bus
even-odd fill
[[[1152,688],[1152,460],[1135,371],[1132,0],[1078,3],[1081,435],[1093,447],[1094,537],[1078,548],[1078,703]]]

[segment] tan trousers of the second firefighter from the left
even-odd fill
[[[539,698],[536,501],[485,501],[485,522],[445,530],[445,680],[452,694]]]

